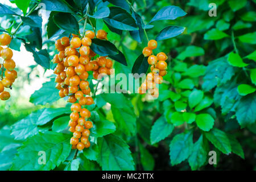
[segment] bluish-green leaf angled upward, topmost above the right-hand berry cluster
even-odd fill
[[[185,16],[187,13],[185,11],[181,10],[180,7],[177,6],[166,6],[163,7],[156,13],[154,18],[150,20],[151,22],[155,22],[158,20],[165,20],[165,19],[171,19],[174,20],[176,18],[179,18],[180,16]]]

